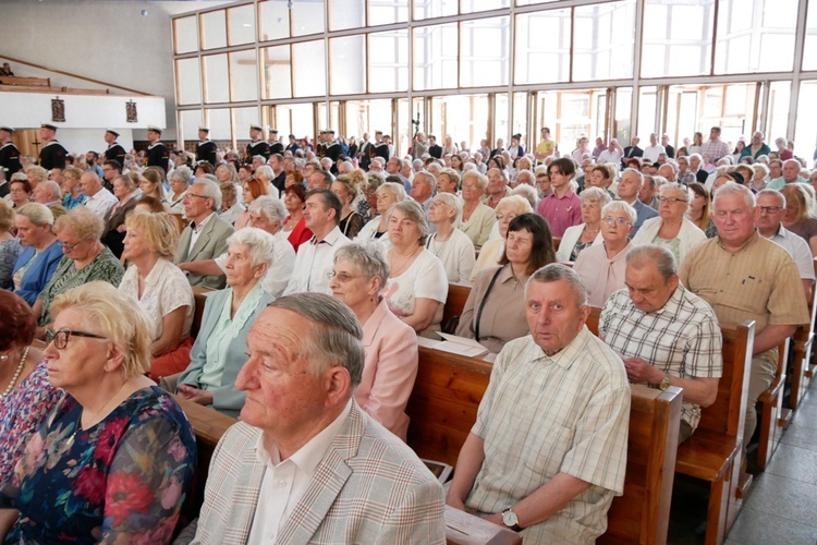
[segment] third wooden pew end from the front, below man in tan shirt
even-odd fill
[[[760,411],[758,426],[760,437],[757,446],[757,467],[765,470],[771,461],[771,457],[780,445],[783,431],[789,427],[791,410],[783,409],[783,390],[785,387],[785,370],[789,360],[789,342],[785,339],[778,347],[778,371],[771,386],[757,398],[757,408]],[[748,439],[747,439],[748,440]]]

